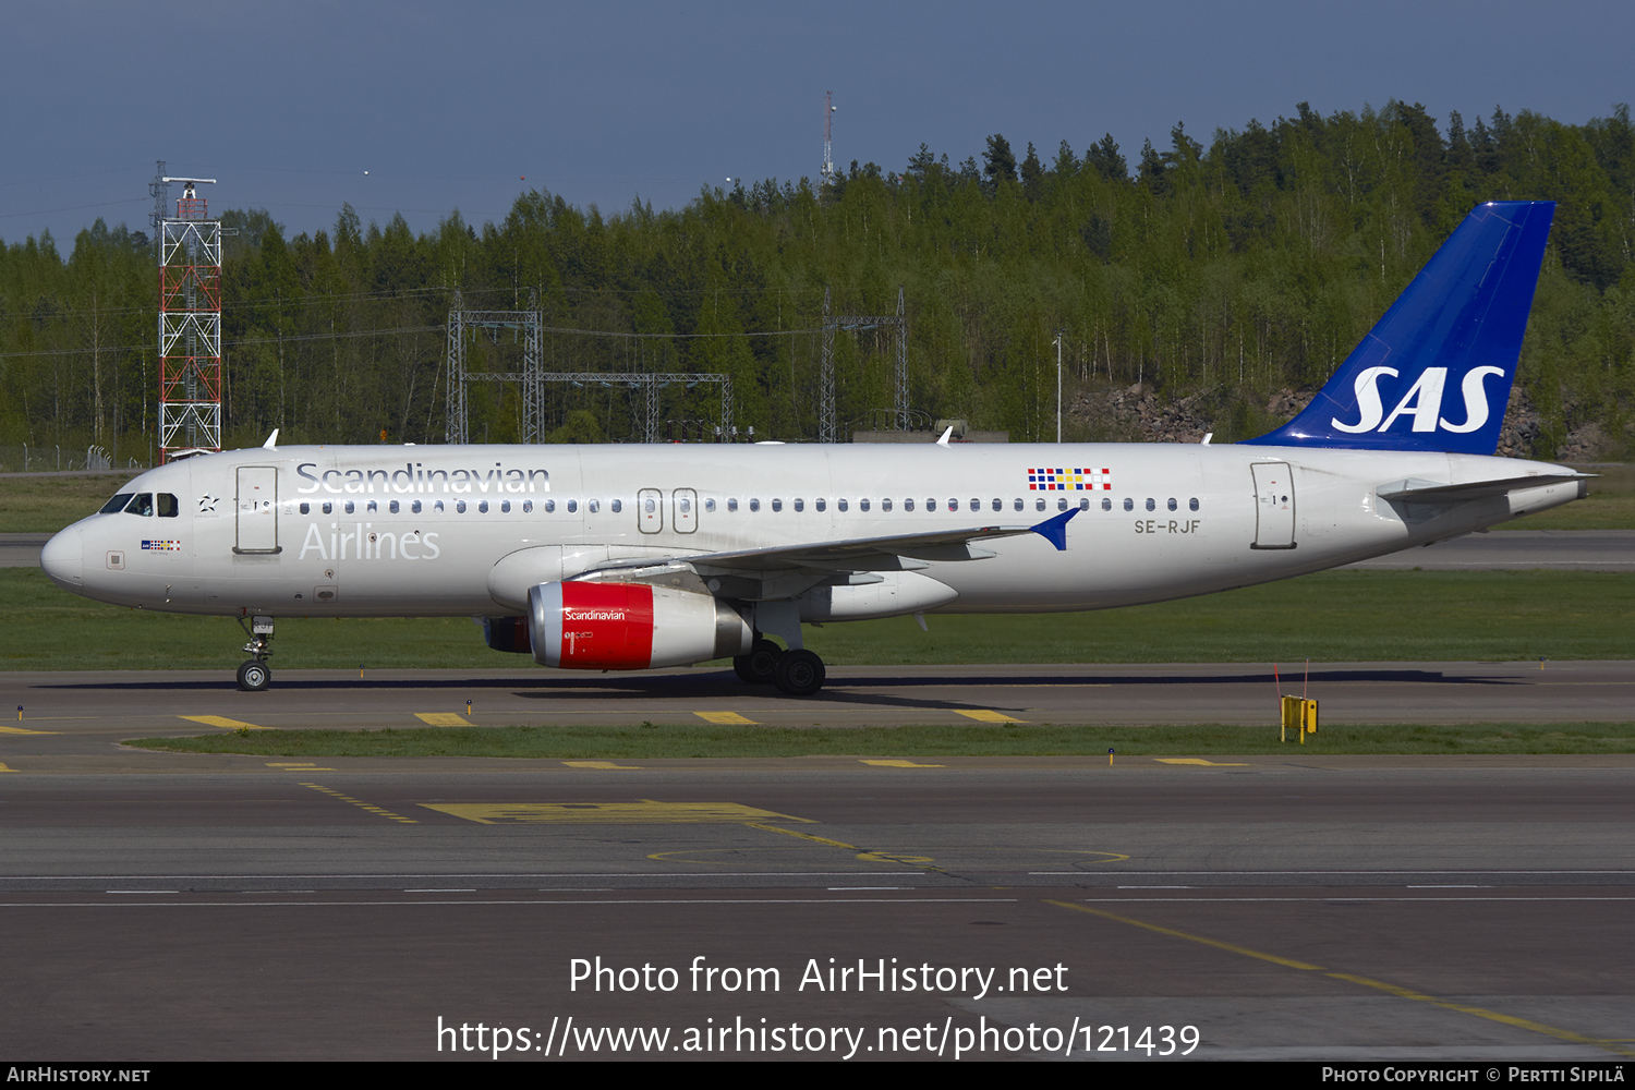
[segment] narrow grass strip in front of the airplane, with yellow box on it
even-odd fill
[[[1635,722],[1475,722],[1326,726],[1305,745],[1272,726],[1069,727],[734,727],[643,722],[631,727],[409,727],[244,730],[131,739],[180,753],[257,757],[1244,757],[1254,753],[1635,753]]]

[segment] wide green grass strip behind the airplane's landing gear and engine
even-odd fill
[[[1517,662],[1635,659],[1635,575],[1319,572],[1202,598],[1048,616],[911,618],[811,628],[829,665],[999,662]],[[231,618],[124,610],[0,569],[0,670],[222,670]],[[280,616],[280,670],[531,668],[469,618]],[[719,668],[721,663],[706,668]],[[276,680],[275,680],[276,685]]]

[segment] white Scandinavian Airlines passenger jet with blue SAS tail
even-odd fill
[[[1555,206],[1480,204],[1269,435],[1231,444],[278,446],[141,474],[56,534],[59,587],[239,619],[473,616],[564,670],[731,659],[811,696],[803,624],[1205,595],[1586,495],[1494,458]],[[772,637],[783,642],[780,647]]]

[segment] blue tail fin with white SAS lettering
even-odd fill
[[[1478,204],[1305,412],[1248,443],[1491,454],[1553,216]]]

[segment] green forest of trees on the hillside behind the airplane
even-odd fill
[[[1419,105],[1081,154],[988,139],[960,163],[925,145],[903,170],[706,190],[618,214],[528,191],[502,222],[458,212],[415,235],[397,216],[284,237],[265,211],[224,226],[224,444],[441,441],[445,325],[538,297],[551,371],[708,371],[755,438],[818,435],[824,289],[837,314],[891,314],[906,289],[911,405],[1012,440],[1055,435],[1053,340],[1073,387],[1213,391],[1220,440],[1269,425],[1267,399],[1321,386],[1463,216],[1485,199],[1558,201],[1519,386],[1537,456],[1588,422],[1610,456],[1635,407],[1635,127],[1627,106],[1573,126],[1494,109],[1437,124]],[[0,243],[0,444],[155,443],[157,275],[144,232]],[[889,332],[835,338],[842,431],[888,427]],[[510,330],[468,348],[513,369]],[[554,441],[641,435],[628,384],[548,394]],[[471,436],[515,441],[520,395],[474,384]],[[713,387],[662,391],[665,438],[711,435]],[[1068,438],[1087,435],[1084,425]]]

